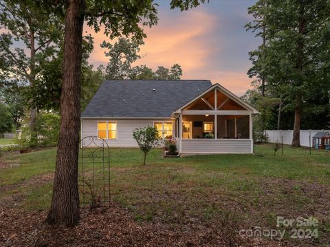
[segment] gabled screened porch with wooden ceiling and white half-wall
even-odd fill
[[[178,109],[174,115],[179,153],[253,153],[254,109],[235,97],[214,85]]]

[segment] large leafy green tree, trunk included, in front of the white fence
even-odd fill
[[[262,49],[251,56],[253,70],[268,89],[294,108],[292,146],[300,146],[303,109],[311,91],[329,92],[329,1],[259,0],[253,16],[261,16],[266,32]],[[254,5],[254,6],[256,6]],[[262,56],[261,56],[262,54]]]

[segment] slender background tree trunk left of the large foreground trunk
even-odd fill
[[[31,20],[31,23],[33,23],[33,20]],[[32,24],[31,24],[32,25]],[[36,62],[34,60],[34,55],[36,53],[35,47],[34,47],[34,31],[30,27],[30,86],[33,86],[34,80],[36,80],[35,76],[35,67]],[[30,102],[32,103],[33,99],[30,99]],[[31,139],[30,139],[30,145],[35,146],[38,144],[38,136],[36,132],[36,108],[32,107],[30,109],[30,132],[31,132]]]

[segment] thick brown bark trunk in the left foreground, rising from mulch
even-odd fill
[[[80,127],[80,78],[85,10],[84,0],[67,1],[61,93],[61,126],[56,156],[53,198],[47,222],[73,226],[78,223],[78,152]]]

